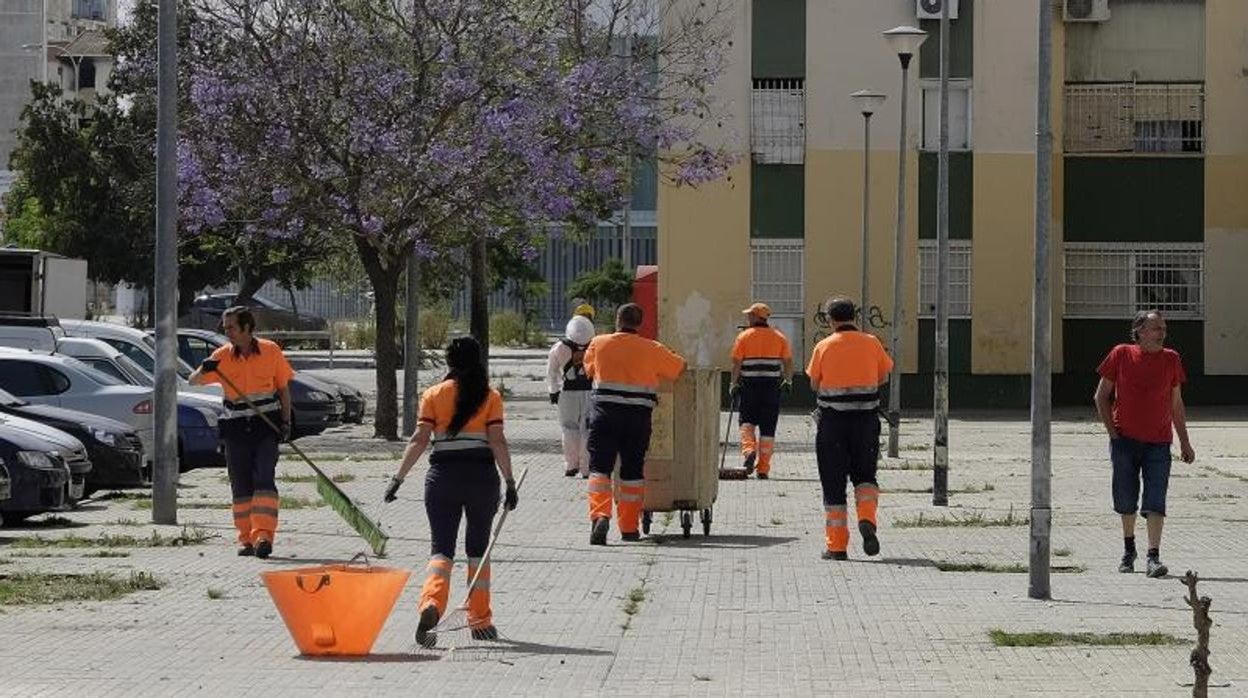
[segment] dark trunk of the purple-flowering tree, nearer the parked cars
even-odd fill
[[[373,286],[373,308],[377,323],[377,338],[373,345],[373,358],[377,372],[377,411],[373,418],[373,436],[389,441],[398,440],[398,346],[394,343],[394,321],[398,305],[398,280],[403,271],[402,262],[389,267],[377,255],[368,242],[356,237],[359,260]]]

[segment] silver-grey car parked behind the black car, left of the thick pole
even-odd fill
[[[0,388],[35,405],[66,407],[125,422],[152,448],[152,390],[127,386],[81,361],[0,347]]]

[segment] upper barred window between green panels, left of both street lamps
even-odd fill
[[[750,96],[750,152],[760,165],[801,165],[806,156],[802,79],[755,79]]]

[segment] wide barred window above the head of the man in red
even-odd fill
[[[1124,320],[1141,310],[1204,317],[1204,246],[1067,242],[1066,317]]]

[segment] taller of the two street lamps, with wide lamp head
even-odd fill
[[[892,335],[889,352],[892,355],[892,373],[889,375],[889,457],[896,458],[901,441],[901,293],[902,255],[906,246],[906,92],[909,90],[910,59],[927,39],[927,32],[914,26],[897,26],[884,32],[889,47],[901,60],[901,130],[897,141],[897,227],[892,248]]]

